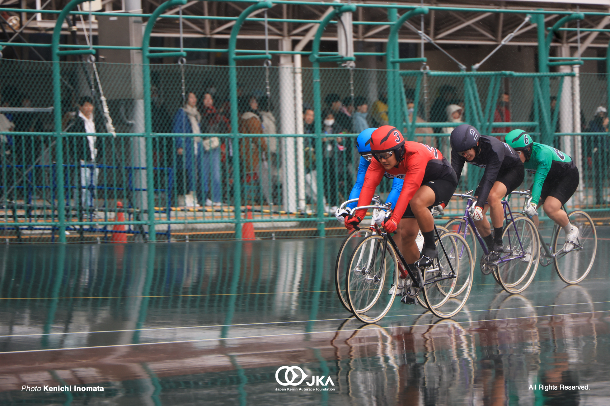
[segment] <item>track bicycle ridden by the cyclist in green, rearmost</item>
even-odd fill
[[[522,195],[526,198],[523,203],[523,213],[525,213],[525,208],[532,199],[531,191],[522,192]],[[586,212],[575,210],[568,213],[564,205],[561,208],[568,215],[570,223],[578,227],[578,238],[574,243],[569,243],[568,247],[565,247],[565,244],[559,243],[561,227],[553,222],[551,243],[545,243],[540,230],[536,229],[542,247],[540,265],[547,267],[553,263],[559,278],[572,285],[586,278],[593,267],[597,253],[597,231],[593,220]]]

